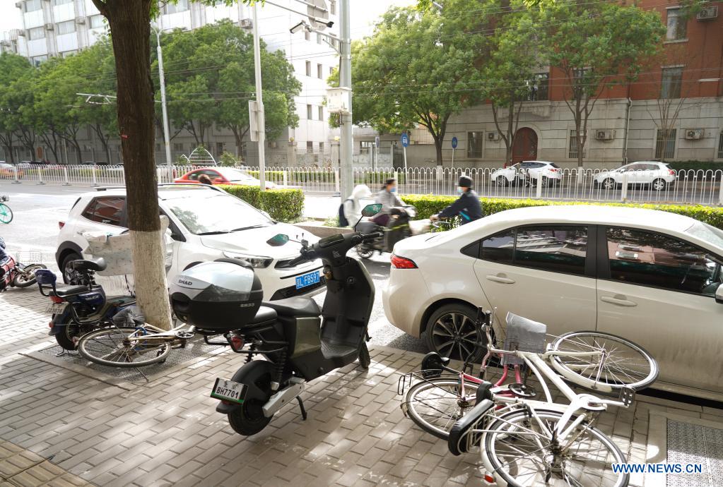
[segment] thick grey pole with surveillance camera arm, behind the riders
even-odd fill
[[[339,4],[341,34],[341,66],[339,70],[339,87],[351,90],[351,17],[349,0],[341,0]],[[349,95],[348,112],[341,114],[341,201],[351,197],[354,188],[354,176],[351,171],[354,156],[354,143],[351,130],[351,95]]]

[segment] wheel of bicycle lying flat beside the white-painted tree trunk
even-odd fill
[[[106,328],[90,332],[78,340],[78,353],[93,363],[109,367],[142,367],[166,360],[171,344],[158,337],[141,337],[145,330],[137,328]]]

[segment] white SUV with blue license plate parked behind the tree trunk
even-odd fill
[[[299,243],[289,241],[281,247],[266,243],[278,233],[292,240],[316,242],[318,238],[307,231],[275,222],[264,212],[213,186],[159,185],[158,204],[170,220],[173,238],[170,277],[199,262],[239,257],[254,266],[267,301],[308,296],[322,290],[320,261],[288,265],[299,255]],[[80,259],[87,249],[82,234],[117,235],[126,230],[126,219],[124,188],[99,189],[77,199],[67,220],[59,222],[56,261],[66,282],[72,272],[69,262]]]

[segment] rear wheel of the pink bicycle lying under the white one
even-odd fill
[[[406,412],[417,426],[437,438],[448,439],[454,423],[474,407],[477,384],[464,383],[460,396],[458,379],[429,379],[417,382],[406,393]]]

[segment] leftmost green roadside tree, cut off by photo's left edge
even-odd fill
[[[30,79],[33,70],[24,57],[0,53],[0,144],[11,163],[15,162],[15,142],[21,143],[23,134],[29,130],[22,124],[19,108],[25,102],[24,98],[31,93],[26,89],[21,94],[18,82]],[[34,150],[34,147],[30,150]]]

